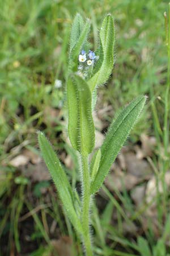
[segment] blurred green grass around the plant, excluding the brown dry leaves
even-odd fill
[[[100,101],[97,105],[112,105],[111,115],[105,117],[110,122],[117,108],[131,101],[138,94],[147,94],[148,103],[141,121],[131,134],[131,142],[139,141],[141,133],[156,137],[156,151],[150,162],[154,167],[157,180],[163,183],[163,193],[157,193],[159,240],[169,232],[169,191],[165,185],[165,172],[169,169],[169,109],[168,85],[169,67],[164,30],[164,11],[168,11],[168,1],[161,0],[101,0],[101,1],[52,1],[52,0],[5,0],[0,1],[0,241],[6,241],[6,249],[0,255],[9,255],[12,248],[20,251],[20,217],[30,213],[32,229],[31,241],[36,243],[32,255],[50,255],[49,223],[57,223],[59,236],[73,237],[73,255],[80,249],[67,217],[62,214],[61,204],[53,189],[48,187],[50,200],[42,195],[30,201],[28,190],[35,184],[20,174],[18,168],[9,165],[14,156],[24,148],[35,151],[37,148],[36,131],[44,130],[59,152],[63,150],[73,155],[73,187],[78,177],[78,159],[75,152],[65,143],[65,78],[67,72],[67,51],[70,25],[76,12],[92,20],[91,48],[97,46],[97,26],[101,18],[112,13],[116,24],[116,63],[113,75],[107,86],[100,88]],[[169,26],[170,27],[170,26]],[[170,44],[169,44],[170,45]],[[169,56],[169,55],[168,55]],[[168,77],[168,79],[167,79]],[[62,87],[54,87],[55,80],[62,80]],[[165,97],[167,95],[167,98]],[[49,109],[61,109],[61,114],[52,117]],[[48,115],[48,117],[46,117]],[[166,121],[168,119],[168,122]],[[55,123],[55,126],[53,125]],[[61,133],[62,131],[62,133]],[[56,138],[57,136],[57,138]],[[37,152],[37,151],[36,151]],[[39,154],[39,153],[37,153]],[[69,170],[66,171],[70,173]],[[16,181],[16,177],[20,177]],[[114,185],[114,184],[113,184]],[[24,193],[23,193],[24,191]],[[135,209],[126,191],[109,192],[104,188],[102,200],[107,201],[103,212],[93,205],[94,248],[96,255],[142,255],[137,242],[124,237],[123,222],[129,225],[138,223],[142,229],[142,217],[149,205]],[[117,200],[118,199],[118,200]],[[56,201],[57,200],[57,201]],[[36,201],[36,202],[35,202]],[[40,207],[39,207],[40,206]],[[118,228],[109,225],[112,212],[117,215]],[[27,220],[27,219],[26,219]],[[158,247],[154,237],[154,224],[142,230],[152,254]],[[23,222],[24,223],[24,222]],[[105,226],[105,228],[104,228]],[[102,230],[102,232],[101,232]],[[42,243],[44,244],[42,252]],[[1,242],[0,242],[1,244]],[[21,248],[22,250],[22,248]],[[37,250],[37,251],[36,251]],[[45,252],[46,250],[46,252]],[[161,247],[161,250],[164,250]],[[169,253],[166,248],[165,255]],[[6,254],[5,252],[6,251]],[[42,254],[44,253],[44,254]],[[147,254],[146,254],[147,255]],[[160,255],[158,255],[160,256]]]

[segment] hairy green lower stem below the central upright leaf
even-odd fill
[[[83,243],[87,256],[93,256],[90,239],[90,173],[87,156],[81,156],[82,160],[82,227]]]

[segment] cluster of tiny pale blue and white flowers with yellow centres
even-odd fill
[[[79,65],[78,65],[78,75],[84,77],[88,76],[90,67],[93,68],[95,62],[99,59],[99,56],[95,55],[93,51],[86,51],[82,50],[79,54]]]

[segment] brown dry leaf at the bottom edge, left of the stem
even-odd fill
[[[72,251],[72,239],[70,237],[61,237],[58,240],[52,240],[54,252],[51,256],[55,256],[55,252],[58,256],[73,256]]]

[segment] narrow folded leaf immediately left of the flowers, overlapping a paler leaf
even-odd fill
[[[82,48],[86,48],[87,44],[87,35],[90,31],[90,20],[87,19],[86,23],[84,24],[83,30],[77,38],[75,46],[70,52],[69,56],[69,69],[71,71],[76,71],[78,67],[78,56]]]

